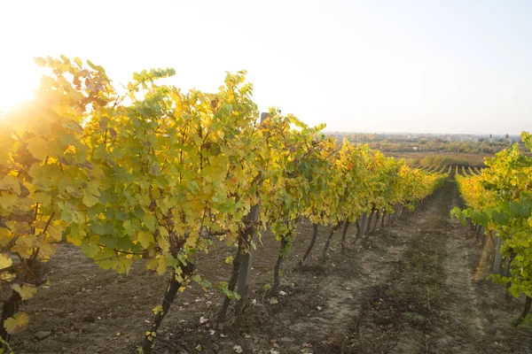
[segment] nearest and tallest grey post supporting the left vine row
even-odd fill
[[[268,118],[267,112],[261,113],[261,123],[264,121],[264,119]],[[242,263],[240,264],[240,271],[239,271],[239,280],[237,281],[237,294],[239,294],[240,298],[235,304],[235,314],[239,315],[239,313],[244,308],[244,305],[247,303],[247,290],[249,289],[249,276],[251,274],[251,266],[253,262],[253,240],[254,235],[256,234],[256,224],[259,221],[259,205],[255,204],[251,207],[251,210],[249,211],[249,217],[251,221],[251,227],[253,227],[252,232],[250,233],[250,236],[246,242],[247,247],[247,253],[244,253],[242,255]]]

